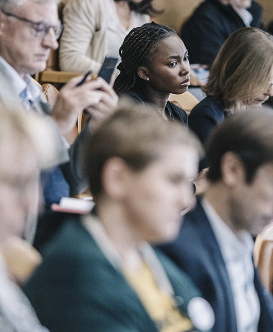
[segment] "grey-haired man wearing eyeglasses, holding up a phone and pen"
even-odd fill
[[[65,134],[75,126],[83,109],[92,117],[89,127],[96,126],[115,107],[117,96],[100,78],[77,86],[82,80],[78,77],[60,90],[51,109],[30,75],[45,70],[50,50],[58,47],[61,31],[57,0],[0,0],[0,102],[9,108],[50,114]],[[48,205],[85,188],[79,157],[84,136],[85,132],[69,150],[62,149],[61,167],[48,175]]]

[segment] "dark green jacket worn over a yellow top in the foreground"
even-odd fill
[[[42,254],[43,262],[25,292],[51,332],[158,331],[79,218],[66,220]],[[188,302],[200,293],[165,254],[157,255],[185,315]]]

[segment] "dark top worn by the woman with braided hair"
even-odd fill
[[[128,97],[138,103],[151,105],[150,100],[146,97],[143,91],[141,89],[138,89],[137,87],[123,93],[120,97]],[[172,102],[167,101],[165,112],[170,119],[173,119],[175,121],[181,121],[185,126],[188,125],[187,113]]]

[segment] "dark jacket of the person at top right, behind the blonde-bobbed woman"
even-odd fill
[[[263,29],[261,6],[252,1],[248,11],[253,17],[250,26]],[[185,22],[180,37],[188,49],[191,63],[211,65],[225,40],[243,27],[244,22],[230,5],[206,0]]]

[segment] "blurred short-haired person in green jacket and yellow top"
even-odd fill
[[[25,290],[51,332],[208,331],[214,314],[150,244],[192,204],[199,142],[154,108],[126,104],[87,140],[96,214],[67,220]]]

